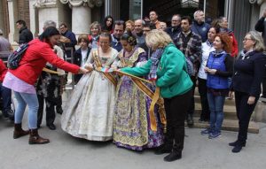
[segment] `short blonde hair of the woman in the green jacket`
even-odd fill
[[[153,29],[146,35],[146,44],[154,49],[164,48],[170,42],[173,42],[171,37],[163,30]]]

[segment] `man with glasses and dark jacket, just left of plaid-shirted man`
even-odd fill
[[[179,14],[175,14],[171,20],[171,27],[168,27],[165,31],[170,35],[172,39],[176,37],[181,32],[181,16]]]

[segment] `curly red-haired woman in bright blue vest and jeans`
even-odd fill
[[[210,127],[201,131],[208,134],[209,139],[221,135],[223,124],[223,104],[228,96],[228,78],[232,75],[233,59],[230,56],[231,38],[226,33],[215,36],[215,51],[207,59],[207,102],[210,110]]]

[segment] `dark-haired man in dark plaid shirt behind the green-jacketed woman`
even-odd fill
[[[196,87],[196,77],[200,68],[200,58],[201,58],[201,38],[200,35],[196,35],[192,32],[192,19],[189,16],[184,16],[181,19],[181,29],[182,32],[179,33],[175,38],[174,42],[176,48],[184,53],[186,58],[189,58],[194,65],[194,72],[190,75],[193,81],[193,96],[190,105],[190,109],[187,114],[187,125],[192,127],[194,125],[193,113],[195,109],[194,101],[194,89]]]

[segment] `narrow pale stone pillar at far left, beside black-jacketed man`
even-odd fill
[[[9,41],[18,42],[19,40],[19,31],[16,30],[16,21],[18,20],[18,4],[17,1],[7,0],[8,2],[8,12],[9,12]]]

